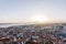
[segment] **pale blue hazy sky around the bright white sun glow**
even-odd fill
[[[35,15],[66,22],[66,0],[0,0],[0,23],[31,22]]]

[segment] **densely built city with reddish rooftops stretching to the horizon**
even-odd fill
[[[0,44],[66,44],[66,24],[30,24],[0,28]]]

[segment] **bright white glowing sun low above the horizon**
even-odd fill
[[[37,15],[32,16],[32,21],[42,23],[42,22],[47,21],[47,18],[45,15],[37,14]]]

